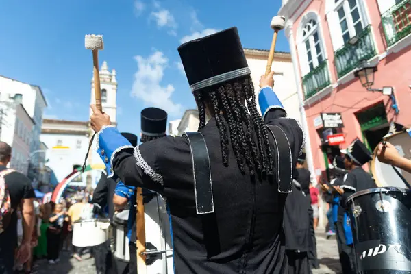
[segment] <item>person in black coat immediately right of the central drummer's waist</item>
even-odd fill
[[[288,274],[311,273],[308,262],[310,250],[310,200],[294,180],[292,192],[286,199],[284,208],[284,232],[286,235],[286,253]]]

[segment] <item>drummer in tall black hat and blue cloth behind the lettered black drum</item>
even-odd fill
[[[343,182],[337,188],[342,192],[340,197],[340,208],[338,208],[338,219],[336,223],[338,249],[340,250],[340,262],[343,273],[356,273],[355,251],[353,249],[352,232],[349,227],[349,216],[345,212],[345,202],[353,193],[369,188],[376,188],[377,184],[370,173],[362,169],[362,166],[372,160],[371,152],[360,140],[354,140],[351,145],[341,153],[345,154],[344,165],[349,171],[343,177]]]

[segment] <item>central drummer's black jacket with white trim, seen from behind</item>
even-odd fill
[[[295,166],[303,132],[295,119],[285,116],[284,110],[272,109],[264,122],[285,132],[291,147],[290,164]],[[176,274],[284,273],[286,194],[278,192],[277,182],[253,183],[248,174],[242,175],[231,145],[229,166],[223,165],[214,118],[200,132],[210,156],[213,214],[196,214],[190,145],[184,137],[166,136],[117,152],[114,173],[121,182],[148,188],[166,199]],[[274,151],[271,134],[269,140]]]

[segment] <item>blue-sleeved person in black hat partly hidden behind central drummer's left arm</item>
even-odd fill
[[[166,127],[167,112],[164,110],[160,108],[145,108],[141,111],[141,142],[145,143],[166,136]],[[127,206],[127,203],[129,203],[127,238],[129,239],[130,260],[124,273],[136,274],[136,188],[119,182],[114,190],[113,203],[116,211],[123,210]]]

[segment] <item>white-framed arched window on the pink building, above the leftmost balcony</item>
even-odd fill
[[[316,21],[310,20],[303,27],[303,44],[306,47],[308,68],[312,71],[325,59]]]

